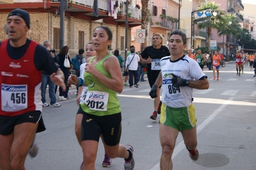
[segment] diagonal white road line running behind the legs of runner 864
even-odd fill
[[[210,114],[210,116],[205,121],[203,121],[203,123],[201,123],[201,125],[199,125],[196,128],[197,134],[200,134],[201,130],[203,130],[203,128],[205,128],[212,120],[214,120],[214,118],[219,114],[219,112],[221,112],[226,107],[226,105],[230,104],[233,99],[234,99],[234,97],[228,98],[228,100],[226,100],[226,102],[223,105],[221,105],[216,111],[214,111],[212,114]],[[184,145],[184,142],[181,141],[175,147],[175,150],[173,151],[172,158],[175,158],[176,155],[178,155],[178,153],[180,153],[180,151],[182,151],[183,149],[185,149],[185,145]],[[150,170],[160,170],[160,162]]]

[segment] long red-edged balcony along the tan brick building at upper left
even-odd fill
[[[0,0],[1,1],[1,0]],[[125,27],[126,5],[119,5],[119,12],[108,15],[108,0],[98,0],[98,16],[94,15],[94,0],[67,0],[66,17],[74,17],[81,20],[101,20],[107,24]],[[1,4],[1,12],[10,12],[13,8],[22,8],[28,12],[51,12],[55,15],[60,7],[60,0],[13,0],[13,4]],[[57,15],[60,15],[58,12]],[[128,6],[128,27],[141,26],[141,10]]]

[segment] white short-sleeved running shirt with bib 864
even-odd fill
[[[182,58],[171,61],[170,56],[161,59],[162,71],[162,102],[169,107],[187,107],[192,103],[192,88],[189,86],[175,88],[172,83],[171,73],[187,80],[199,80],[207,77],[201,70],[197,61],[183,56]]]

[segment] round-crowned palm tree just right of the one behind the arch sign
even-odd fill
[[[237,33],[239,33],[241,30],[241,25],[235,18],[235,14],[225,13],[225,15],[223,15],[223,19],[216,23],[218,26],[218,35],[226,35],[226,61],[230,61],[230,36],[234,35],[236,37]]]

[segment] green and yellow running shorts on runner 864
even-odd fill
[[[159,122],[168,127],[175,128],[180,132],[193,128],[196,126],[194,104],[180,108],[173,108],[162,104]]]

